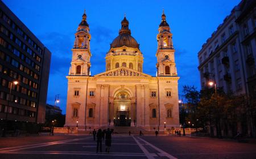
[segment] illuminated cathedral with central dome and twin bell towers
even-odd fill
[[[172,33],[162,14],[156,42],[156,76],[143,73],[143,54],[126,17],[106,54],[106,71],[90,75],[90,38],[86,14],[75,33],[69,68],[65,126],[89,130],[130,126],[164,131],[179,126],[177,70]],[[147,63],[146,65],[151,65]]]

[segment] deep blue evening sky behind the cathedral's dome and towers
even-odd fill
[[[131,35],[140,44],[144,56],[143,72],[155,76],[156,35],[162,10],[173,33],[175,61],[180,76],[179,94],[183,85],[200,89],[197,53],[232,8],[240,0],[180,1],[34,1],[3,0],[16,16],[43,42],[52,53],[47,103],[59,106],[65,114],[67,79],[72,58],[74,33],[84,9],[92,40],[92,75],[105,71],[105,54],[118,36],[126,14]]]

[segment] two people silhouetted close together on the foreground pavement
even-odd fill
[[[95,130],[94,130],[95,131]],[[95,132],[94,132],[95,133]],[[94,134],[93,134],[94,135]],[[111,147],[111,135],[112,135],[112,131],[110,131],[110,129],[108,128],[108,130],[105,131],[105,133],[99,129],[96,137],[97,137],[97,153],[98,153],[98,149],[100,147],[100,152],[102,152],[102,138],[105,136],[105,145],[106,145],[106,152],[109,153],[109,149]]]

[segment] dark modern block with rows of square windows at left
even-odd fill
[[[50,62],[50,51],[0,1],[1,121],[44,123]]]

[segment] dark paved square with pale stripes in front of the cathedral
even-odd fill
[[[0,139],[0,158],[256,158],[256,145],[235,141],[114,135],[110,153],[96,153],[92,136],[57,135]]]

